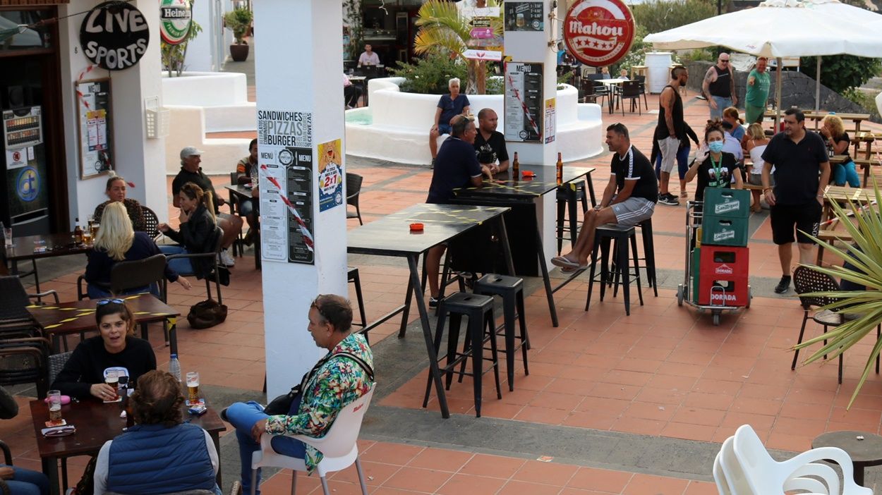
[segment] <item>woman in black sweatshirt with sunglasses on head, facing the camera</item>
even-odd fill
[[[135,316],[123,299],[103,299],[95,307],[99,336],[87,338],[73,350],[52,387],[78,399],[89,396],[112,400],[116,388],[104,382],[108,371],[127,376],[136,384],[142,374],[156,369],[153,347],[134,336]]]

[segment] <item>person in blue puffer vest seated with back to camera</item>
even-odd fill
[[[95,495],[191,490],[221,495],[214,443],[202,428],[182,422],[183,395],[175,377],[158,370],[141,375],[129,402],[135,425],[101,447]]]

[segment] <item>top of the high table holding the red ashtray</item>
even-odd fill
[[[509,208],[415,204],[348,231],[347,250],[361,255],[418,255],[505,211]],[[410,232],[414,223],[424,225],[422,232]]]

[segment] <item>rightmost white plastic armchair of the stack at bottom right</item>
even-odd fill
[[[725,446],[725,443],[723,444]],[[757,495],[773,493],[784,495],[785,491],[809,491],[826,495],[872,495],[873,491],[855,483],[854,466],[848,454],[837,447],[813,448],[783,461],[775,461],[759,440],[751,425],[742,425],[735,432],[732,442],[735,463],[744,475],[746,486]],[[727,452],[721,450],[723,470],[727,466]],[[842,470],[842,484],[839,474],[832,467],[819,463],[830,460],[839,464]],[[734,479],[726,472],[729,487]],[[841,490],[840,490],[841,486]],[[732,491],[740,495],[742,491]]]

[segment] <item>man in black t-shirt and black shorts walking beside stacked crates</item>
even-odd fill
[[[806,233],[818,235],[830,159],[824,140],[805,131],[805,115],[798,108],[784,112],[784,131],[772,137],[763,159],[763,196],[771,207],[772,240],[778,245],[781,260],[781,282],[774,292],[781,294],[790,289],[794,227],[799,262],[813,261],[814,243]],[[774,190],[769,187],[773,166]]]

